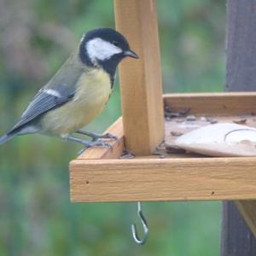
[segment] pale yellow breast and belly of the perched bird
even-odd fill
[[[110,94],[111,82],[108,73],[102,69],[83,73],[77,83],[73,100],[44,115],[44,132],[64,137],[78,131],[102,112]]]

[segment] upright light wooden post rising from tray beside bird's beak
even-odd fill
[[[150,154],[164,137],[160,45],[154,0],[115,0],[116,28],[140,56],[120,64],[125,147]]]

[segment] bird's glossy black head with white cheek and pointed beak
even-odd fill
[[[111,77],[126,56],[138,58],[125,37],[111,28],[98,28],[84,34],[79,56],[87,66],[102,67]]]

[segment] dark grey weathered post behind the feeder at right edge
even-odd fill
[[[256,1],[228,0],[227,13],[226,89],[256,90]],[[256,255],[256,201],[224,202],[223,213],[221,255]]]

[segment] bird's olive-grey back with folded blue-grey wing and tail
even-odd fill
[[[27,133],[31,133],[34,129],[32,126],[41,115],[71,101],[75,95],[76,83],[82,73],[84,73],[84,67],[81,66],[75,53],[67,59],[49,83],[38,91],[18,123],[6,135],[0,137],[0,144],[25,129],[29,131]]]

